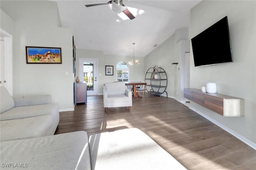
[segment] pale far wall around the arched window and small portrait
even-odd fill
[[[76,43],[76,40],[74,40]],[[132,50],[132,49],[131,49]],[[116,81],[116,65],[125,62],[129,67],[129,80],[142,81],[145,79],[144,57],[135,57],[140,61],[138,66],[130,66],[128,62],[133,56],[114,56],[103,54],[102,51],[76,49],[76,76],[79,76],[79,58],[98,59],[98,94],[103,94],[103,84]],[[114,66],[114,76],[105,76],[105,66]],[[101,74],[102,76],[99,76]]]

